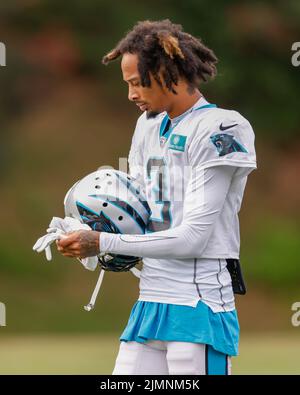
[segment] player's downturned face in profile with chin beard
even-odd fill
[[[136,54],[125,53],[122,57],[121,68],[123,79],[128,83],[128,99],[136,103],[141,111],[147,111],[147,118],[167,111],[170,92],[166,88],[162,88],[151,74],[151,86],[143,87],[141,85]]]

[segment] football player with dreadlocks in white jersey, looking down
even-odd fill
[[[121,335],[113,374],[230,374],[238,353],[234,293],[245,293],[239,220],[254,133],[199,85],[217,58],[169,20],[143,21],[103,58],[121,58],[130,101],[143,112],[129,154],[152,215],[145,235],[75,232],[66,256],[143,257],[140,295]]]

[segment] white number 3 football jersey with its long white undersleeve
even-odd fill
[[[226,258],[239,258],[238,212],[256,168],[253,130],[238,112],[204,98],[164,133],[167,124],[166,113],[143,113],[129,153],[152,211],[147,234],[101,233],[100,248],[143,257],[139,300],[195,307],[201,299],[215,312],[232,310]],[[224,172],[214,175],[218,166]],[[204,174],[218,180],[207,194]],[[209,208],[214,199],[217,208]]]

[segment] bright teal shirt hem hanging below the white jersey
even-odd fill
[[[201,343],[235,356],[239,343],[237,312],[214,313],[202,301],[196,307],[137,301],[120,340]]]

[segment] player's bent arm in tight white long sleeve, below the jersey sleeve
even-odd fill
[[[149,258],[199,256],[222,210],[235,171],[234,166],[194,168],[184,202],[183,221],[179,226],[146,235],[102,232],[100,250]]]

